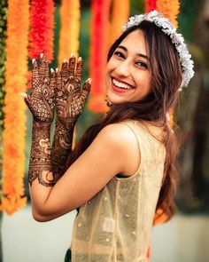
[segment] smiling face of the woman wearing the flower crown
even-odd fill
[[[149,54],[142,30],[123,39],[107,63],[105,84],[112,104],[135,102],[151,92]]]

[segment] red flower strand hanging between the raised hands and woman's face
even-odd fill
[[[110,0],[91,1],[89,71],[92,84],[89,109],[95,113],[103,113],[106,110],[104,103],[104,67],[109,46],[110,5]]]

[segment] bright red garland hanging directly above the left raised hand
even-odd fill
[[[31,0],[30,3],[29,57],[37,59],[40,53],[43,52],[47,59],[52,61],[54,50],[54,1]]]

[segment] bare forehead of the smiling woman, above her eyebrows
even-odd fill
[[[137,29],[128,34],[128,36],[123,39],[120,45],[125,46],[128,49],[128,52],[147,54],[145,38],[143,31],[140,29]]]

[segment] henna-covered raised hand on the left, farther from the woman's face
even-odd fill
[[[30,95],[24,94],[27,107],[35,122],[51,123],[54,116],[55,72],[49,72],[49,62],[40,55],[40,65],[32,60],[32,87]]]

